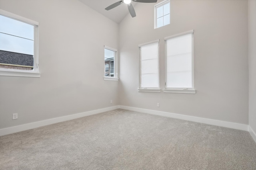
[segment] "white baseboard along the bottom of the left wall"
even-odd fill
[[[24,125],[18,125],[18,126],[14,126],[14,127],[7,127],[7,128],[4,128],[4,129],[0,129],[0,136],[8,135],[8,134],[11,134],[11,133],[16,133],[16,132],[20,132],[20,131],[25,131],[25,130],[28,130],[28,129],[34,129],[36,127],[46,126],[46,125],[50,125],[50,124],[53,124],[53,123],[59,123],[59,122],[62,122],[62,121],[77,119],[77,118],[84,117],[84,116],[95,115],[95,114],[98,114],[98,113],[102,113],[104,111],[110,111],[110,110],[114,110],[114,109],[118,109],[118,108],[119,108],[119,106],[106,107],[106,108],[103,108],[103,109],[86,111],[86,112],[83,112],[83,113],[77,113],[77,114],[67,115],[67,116],[62,116],[62,117],[56,117],[56,118],[53,118],[53,119],[37,121],[37,122],[28,123],[28,124],[24,124]]]

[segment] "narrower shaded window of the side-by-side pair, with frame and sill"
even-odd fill
[[[160,92],[159,88],[159,40],[139,45],[139,92]]]

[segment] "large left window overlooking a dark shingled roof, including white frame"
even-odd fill
[[[0,10],[0,75],[40,77],[38,25]]]

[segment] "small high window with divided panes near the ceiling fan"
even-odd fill
[[[155,28],[170,24],[170,0],[155,5]]]

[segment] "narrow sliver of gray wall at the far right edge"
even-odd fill
[[[249,125],[256,132],[256,0],[248,1]]]

